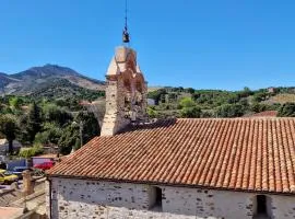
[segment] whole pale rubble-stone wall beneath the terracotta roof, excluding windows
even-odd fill
[[[54,177],[51,218],[250,219],[256,211],[253,193],[158,187],[162,211],[152,208],[154,186]],[[295,218],[295,196],[271,195],[269,200],[271,218]]]

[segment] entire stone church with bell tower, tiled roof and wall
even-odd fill
[[[135,53],[106,78],[102,136],[48,172],[49,218],[295,218],[295,118],[149,123]]]

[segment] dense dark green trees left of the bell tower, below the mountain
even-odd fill
[[[10,154],[16,153],[12,150],[14,139],[27,147],[20,151],[21,157],[42,153],[44,147],[58,147],[60,153],[68,154],[99,135],[97,118],[80,102],[101,95],[91,92],[72,99],[0,97],[0,137],[8,139]]]

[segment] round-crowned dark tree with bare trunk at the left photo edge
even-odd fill
[[[9,141],[9,154],[13,154],[13,140],[17,131],[16,118],[13,115],[0,116],[0,132],[2,132]]]

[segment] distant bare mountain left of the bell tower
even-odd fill
[[[25,71],[5,74],[0,73],[0,94],[40,96],[58,94],[73,95],[78,91],[104,91],[104,81],[87,78],[70,68],[56,65],[33,67]],[[50,93],[51,92],[51,93]]]

